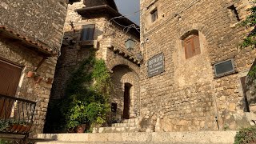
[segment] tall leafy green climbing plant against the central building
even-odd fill
[[[74,71],[61,104],[66,128],[101,126],[110,112],[110,74],[105,62],[86,58]]]

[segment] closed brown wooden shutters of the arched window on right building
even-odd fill
[[[196,31],[195,33],[190,33],[190,35],[187,36],[183,40],[183,42],[185,47],[186,59],[192,58],[195,55],[201,53],[198,31]]]

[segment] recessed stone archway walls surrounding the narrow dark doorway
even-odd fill
[[[124,64],[114,63],[115,66],[111,69],[113,74],[111,75],[113,81],[113,93],[111,94],[111,101],[117,103],[116,120],[122,120],[122,114],[125,111],[125,97],[126,84],[130,84],[130,118],[135,118],[139,114],[139,76],[131,69],[130,66]]]

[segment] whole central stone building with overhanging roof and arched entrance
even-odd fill
[[[67,82],[80,62],[94,54],[111,72],[114,118],[139,114],[139,27],[119,14],[113,0],[85,0],[68,6],[61,56],[58,59],[51,98],[65,97]],[[126,49],[126,41],[134,43]],[[90,53],[93,50],[94,53]]]

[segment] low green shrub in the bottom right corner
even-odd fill
[[[254,144],[256,143],[256,126],[239,130],[235,135],[234,144]]]

